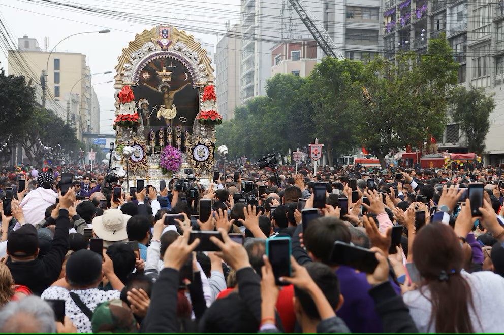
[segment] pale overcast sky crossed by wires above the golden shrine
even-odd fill
[[[226,21],[239,21],[240,0],[54,0],[55,2],[101,10],[120,11],[122,18],[98,17],[96,14],[80,10],[54,6],[43,0],[0,0],[0,12],[5,24],[12,31],[15,40],[24,34],[36,38],[44,48],[44,37],[49,37],[49,50],[66,36],[85,32],[110,29],[107,34],[83,34],[73,36],[56,48],[58,51],[77,52],[86,55],[91,73],[112,71],[110,75],[92,77],[92,84],[112,80],[117,65],[117,57],[122,48],[134,39],[135,34],[151,29],[156,23],[170,23],[180,27],[194,27],[188,33],[208,43],[217,44],[216,32],[226,30]],[[53,7],[50,7],[53,6]],[[89,13],[89,14],[86,14]],[[151,16],[152,15],[152,16]],[[155,16],[155,17],[153,17]],[[146,21],[145,18],[151,21]],[[128,21],[142,21],[140,23]],[[161,22],[163,21],[164,22]],[[151,22],[151,23],[149,23]],[[7,69],[7,56],[0,53],[0,66]],[[112,133],[111,124],[114,109],[113,83],[94,86],[100,101],[101,133]]]

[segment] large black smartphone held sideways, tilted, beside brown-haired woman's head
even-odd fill
[[[365,273],[373,273],[378,266],[378,260],[373,251],[341,241],[334,242],[331,261]]]

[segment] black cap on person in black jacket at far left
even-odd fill
[[[33,256],[39,249],[39,236],[34,225],[24,224],[7,240],[7,251],[15,257]]]

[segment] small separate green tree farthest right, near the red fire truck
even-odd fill
[[[465,133],[469,152],[482,155],[485,151],[485,137],[490,129],[489,117],[495,109],[493,95],[485,94],[482,87],[473,86],[469,90],[460,87],[452,92],[451,116]]]

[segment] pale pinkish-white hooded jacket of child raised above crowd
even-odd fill
[[[51,189],[36,188],[28,192],[21,201],[24,220],[27,224],[36,225],[45,218],[47,207],[56,203],[58,194]]]

